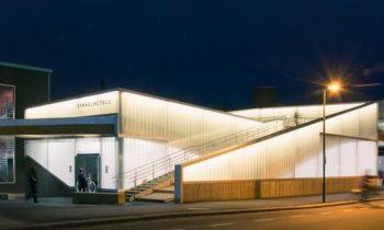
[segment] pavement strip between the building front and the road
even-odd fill
[[[305,196],[183,205],[134,202],[122,206],[75,205],[71,204],[71,198],[66,197],[41,198],[38,204],[33,204],[32,200],[0,200],[0,229],[44,229],[172,217],[314,208],[357,203],[359,198],[360,196],[348,193],[327,195],[326,204],[321,203],[321,196]],[[380,192],[374,198],[384,199],[384,192]]]

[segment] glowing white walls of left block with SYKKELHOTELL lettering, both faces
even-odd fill
[[[117,188],[116,181],[121,177],[118,173],[125,174],[187,147],[216,140],[261,124],[231,114],[123,90],[27,108],[25,117],[59,118],[113,113],[118,114],[120,118],[116,138],[26,140],[27,154],[67,185],[74,186],[76,179],[69,168],[75,169],[75,157],[87,152],[100,153],[101,171],[106,171],[106,168],[109,171],[108,176],[101,176],[102,188]],[[122,149],[118,149],[118,139],[123,143]],[[120,158],[116,157],[118,154]],[[116,162],[117,159],[122,162]],[[57,165],[59,162],[63,164]],[[170,161],[169,169],[157,170],[155,176],[172,170],[172,166],[173,162]],[[142,180],[151,177],[150,173],[148,179]],[[123,176],[123,181],[124,188],[133,185],[128,177]]]

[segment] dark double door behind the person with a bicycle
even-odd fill
[[[80,168],[83,169],[86,176],[91,176],[95,187],[100,188],[100,154],[77,154],[75,157],[75,182],[78,181],[77,176]]]

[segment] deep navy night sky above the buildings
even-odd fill
[[[0,61],[52,68],[54,99],[126,88],[203,106],[318,103],[319,83],[384,83],[384,1],[0,2]],[[352,88],[351,88],[352,89]],[[353,88],[340,101],[384,99]]]

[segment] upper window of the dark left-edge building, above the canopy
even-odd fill
[[[14,118],[14,87],[0,84],[0,119]]]

